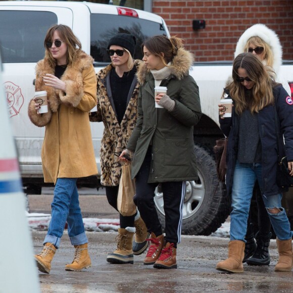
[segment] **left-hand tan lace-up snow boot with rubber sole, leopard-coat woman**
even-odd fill
[[[112,264],[133,264],[132,239],[135,232],[134,227],[119,228],[117,249],[107,256],[107,262]]]

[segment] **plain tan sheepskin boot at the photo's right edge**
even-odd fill
[[[277,238],[279,261],[275,266],[275,271],[290,271],[293,267],[292,238],[279,240]]]

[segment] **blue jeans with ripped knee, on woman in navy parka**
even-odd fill
[[[232,185],[232,212],[230,215],[230,239],[245,241],[249,208],[253,194],[254,184],[258,180],[261,192],[262,186],[262,164],[236,162]],[[290,239],[293,232],[285,210],[281,206],[282,194],[264,197],[264,204],[277,237],[280,240]],[[272,214],[269,209],[278,208],[278,214]]]

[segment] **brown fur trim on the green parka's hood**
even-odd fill
[[[184,48],[179,48],[177,51],[177,55],[174,56],[171,65],[169,68],[171,69],[171,74],[174,75],[178,80],[181,80],[183,76],[189,74],[189,68],[193,63],[193,55],[186,51]],[[145,65],[140,66],[137,71],[137,79],[140,84],[143,84],[145,81],[146,75],[148,75],[151,71],[146,68]]]

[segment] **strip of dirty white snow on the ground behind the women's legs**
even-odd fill
[[[50,214],[27,213],[29,227],[33,230],[47,230],[51,220]],[[83,224],[86,231],[118,231],[119,219],[99,219],[99,218],[83,218]],[[211,236],[214,237],[229,237],[230,222],[227,221]]]

